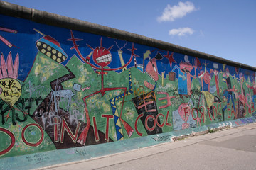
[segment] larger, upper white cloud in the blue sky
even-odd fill
[[[178,5],[171,6],[167,5],[166,8],[164,8],[164,11],[157,20],[159,22],[161,21],[175,21],[177,18],[182,18],[183,16],[186,16],[186,14],[191,13],[192,11],[196,11],[196,7],[194,4],[190,1],[186,2],[178,2]]]

